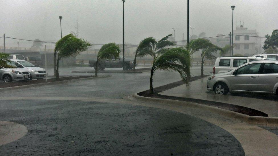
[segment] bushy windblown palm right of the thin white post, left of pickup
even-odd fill
[[[59,80],[59,61],[62,58],[75,57],[82,51],[86,51],[92,44],[84,39],[76,38],[72,34],[64,36],[56,42],[54,51],[58,52],[56,62],[56,79]]]

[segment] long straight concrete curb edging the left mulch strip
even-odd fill
[[[33,88],[33,87],[37,87],[37,86],[46,86],[46,85],[52,85],[52,84],[64,84],[64,83],[69,83],[69,82],[75,82],[78,80],[88,80],[88,79],[105,78],[105,77],[110,77],[110,75],[99,75],[97,77],[77,78],[77,79],[71,79],[71,80],[46,82],[46,83],[40,83],[40,84],[28,84],[28,85],[23,85],[23,86],[6,87],[6,88],[0,88],[0,91],[10,91],[10,90],[16,90],[16,89],[21,89],[21,88]]]

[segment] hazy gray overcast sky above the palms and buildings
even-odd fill
[[[277,29],[277,0],[190,0],[190,26],[193,34],[207,37],[228,34],[244,21],[244,27],[256,29],[260,36]],[[0,0],[0,33],[22,39],[57,41],[76,25],[79,37],[91,43],[122,43],[122,0]],[[146,37],[162,38],[173,33],[176,41],[187,32],[186,0],[126,0],[125,41],[138,43]],[[190,31],[191,33],[191,31]],[[3,36],[3,35],[0,35]],[[0,43],[2,45],[2,43]]]

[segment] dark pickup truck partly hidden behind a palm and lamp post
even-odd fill
[[[96,59],[95,60],[89,60],[89,66],[94,67],[96,69]],[[133,59],[127,59],[124,58],[124,65],[125,69],[132,69],[133,68]],[[123,57],[120,56],[119,59],[111,59],[111,60],[105,60],[100,61],[98,63],[98,69],[104,70],[105,68],[122,68],[123,67]]]

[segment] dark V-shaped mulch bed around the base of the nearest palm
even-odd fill
[[[204,78],[206,76],[195,76],[190,79],[190,81],[198,80],[200,78]],[[158,93],[163,92],[165,90],[169,90],[171,88],[175,88],[177,86],[183,85],[184,83],[182,81],[173,82],[171,84],[167,84],[164,86],[156,87],[154,88],[154,94],[149,93],[149,90],[142,91],[140,93],[137,93],[137,95],[144,96],[144,97],[153,97],[153,98],[160,98],[160,99],[171,99],[171,100],[178,100],[178,101],[186,101],[186,102],[193,102],[198,103],[201,105],[209,105],[213,107],[218,107],[221,109],[226,109],[229,111],[234,111],[242,114],[246,114],[249,116],[259,116],[259,117],[268,117],[266,113],[263,113],[261,111],[251,109],[248,107],[228,104],[228,103],[222,103],[222,102],[216,102],[216,101],[208,101],[208,100],[201,100],[201,99],[192,99],[187,97],[175,97],[175,96],[167,96],[167,95],[160,95]]]

